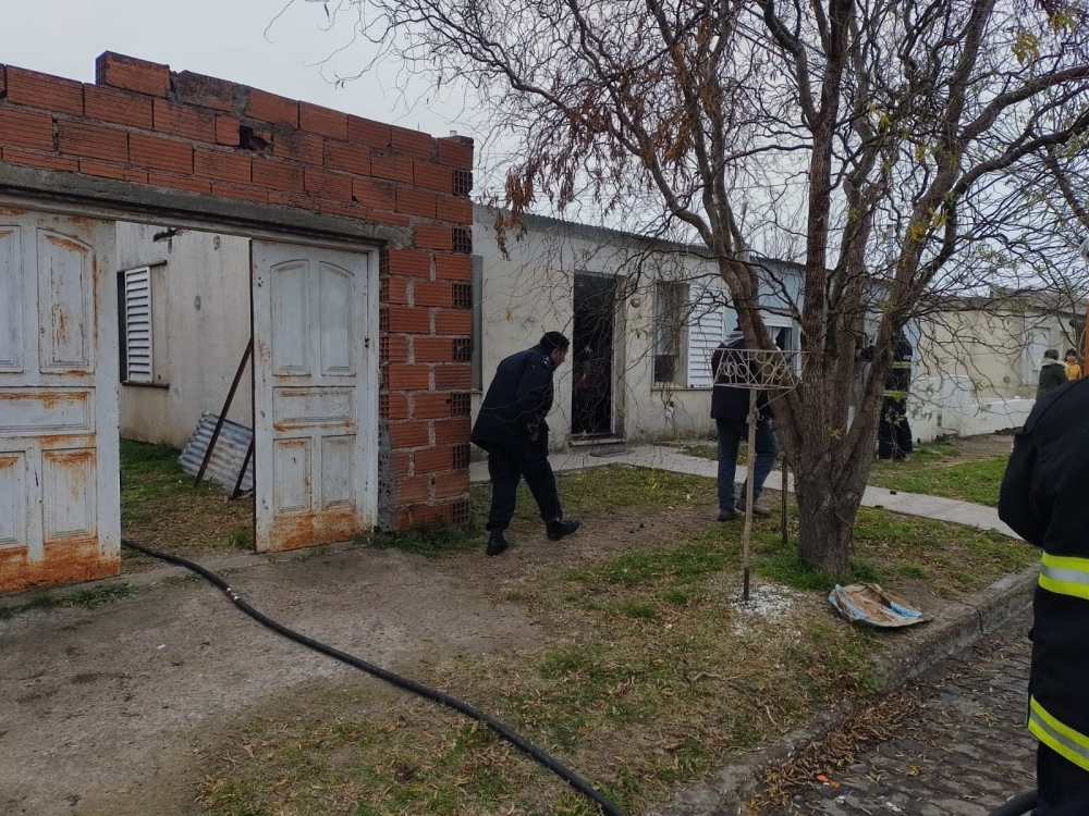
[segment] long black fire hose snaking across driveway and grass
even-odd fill
[[[158,549],[151,549],[150,547],[145,547],[143,544],[137,544],[136,542],[129,541],[127,539],[122,539],[121,543],[123,546],[130,547],[131,549],[136,549],[140,553],[144,553],[145,555],[151,556],[152,558],[159,558],[161,560],[170,561],[171,564],[176,564],[181,567],[185,567],[186,569],[193,570],[197,574],[201,576],[203,578],[207,579],[211,583],[219,586],[219,589],[221,589],[227,594],[227,596],[234,602],[234,605],[238,607],[242,611],[244,611],[246,615],[248,615],[250,618],[256,620],[258,623],[268,627],[272,631],[282,634],[284,638],[289,638],[295,641],[296,643],[301,643],[304,646],[308,646],[309,648],[313,648],[315,652],[320,652],[321,654],[328,655],[329,657],[340,660],[341,663],[346,663],[348,666],[354,666],[357,669],[362,669],[363,671],[366,671],[368,675],[374,675],[375,677],[380,678],[381,680],[384,680],[388,683],[392,683],[397,688],[406,689],[407,691],[411,691],[415,694],[419,694],[423,697],[427,697],[428,700],[432,700],[436,703],[440,703],[444,706],[453,708],[455,712],[461,712],[466,717],[470,717],[477,720],[478,722],[484,722],[486,726],[495,731],[504,740],[506,740],[507,742],[510,742],[524,753],[528,754],[530,757],[533,757],[538,763],[543,765],[546,768],[551,770],[558,777],[563,779],[567,784],[570,784],[576,791],[582,793],[584,796],[594,800],[598,804],[598,806],[601,807],[601,812],[604,813],[605,816],[626,816],[626,814],[621,808],[619,808],[616,805],[614,805],[612,802],[605,799],[605,796],[599,793],[589,782],[579,777],[568,767],[554,759],[552,756],[547,754],[541,749],[534,745],[534,743],[529,742],[529,740],[527,740],[525,737],[521,735],[511,728],[504,726],[498,719],[494,719],[493,717],[488,716],[484,712],[474,708],[468,703],[464,703],[457,697],[453,697],[449,694],[445,694],[439,691],[438,689],[432,689],[428,685],[424,685],[423,683],[416,682],[415,680],[411,680],[409,678],[401,677],[401,675],[395,675],[394,672],[389,671],[388,669],[383,669],[381,666],[376,666],[372,663],[360,660],[358,657],[350,655],[346,652],[341,652],[339,648],[333,648],[332,646],[326,645],[325,643],[316,641],[313,638],[307,638],[305,634],[299,634],[295,630],[289,629],[282,623],[278,623],[267,615],[262,615],[261,613],[257,611],[257,609],[255,609],[245,601],[243,601],[238,596],[238,593],[232,590],[231,585],[227,581],[224,581],[222,578],[217,576],[211,570],[205,569],[199,564],[194,564],[193,561],[186,558],[182,558],[181,556],[171,555],[170,553],[161,553]]]

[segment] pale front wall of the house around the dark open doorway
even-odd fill
[[[621,298],[614,333],[615,435],[628,442],[686,440],[714,432],[710,419],[711,387],[690,387],[688,360],[685,375],[675,384],[653,381],[654,285],[659,281],[685,283],[693,292],[710,290],[715,310],[711,324],[719,336],[733,327],[734,316],[725,306],[721,280],[714,265],[684,247],[654,244],[631,235],[590,226],[526,219],[527,230],[506,236],[504,258],[500,251],[494,215],[486,208],[474,212],[475,254],[482,258],[481,281],[481,373],[484,390],[499,362],[514,351],[533,346],[551,330],[572,333],[575,273],[596,273],[620,280]],[[788,265],[778,264],[776,277],[784,286],[768,283],[761,289],[769,309],[786,309],[800,293],[800,275]],[[721,319],[718,317],[721,316]],[[697,314],[688,316],[693,332]],[[797,337],[797,327],[794,336]],[[690,339],[690,337],[689,337]],[[697,354],[695,346],[688,355]],[[706,356],[707,349],[698,349]],[[692,360],[694,370],[707,366]],[[549,416],[550,447],[565,449],[571,436],[572,368],[570,361],[556,372],[555,408]],[[473,400],[474,417],[481,393]],[[577,442],[577,441],[576,441]]]

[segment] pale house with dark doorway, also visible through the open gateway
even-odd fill
[[[735,319],[698,248],[527,217],[499,249],[494,215],[474,223],[474,416],[503,357],[546,331],[573,341],[549,418],[570,444],[685,440],[713,433],[710,356]],[[184,446],[203,413],[220,413],[249,342],[249,242],[118,225],[121,434]],[[766,322],[798,345],[791,302],[800,269],[769,269]],[[577,387],[576,387],[577,386]],[[252,375],[228,419],[253,426]]]

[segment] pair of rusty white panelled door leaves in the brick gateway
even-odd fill
[[[120,570],[114,234],[0,209],[0,593]],[[256,546],[351,539],[377,509],[368,256],[252,247]]]

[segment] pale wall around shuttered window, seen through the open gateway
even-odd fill
[[[117,225],[119,269],[155,265],[156,382],[121,386],[121,435],[182,447],[203,412],[222,410],[249,343],[249,240],[193,231],[168,235],[161,226]],[[228,418],[253,428],[250,366]]]

